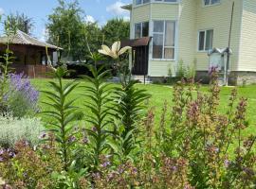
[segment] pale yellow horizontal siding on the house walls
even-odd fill
[[[231,71],[256,71],[256,61],[254,63],[256,48],[253,46],[256,43],[256,35],[252,34],[252,30],[256,30],[256,22],[254,22],[256,21],[255,0],[221,0],[220,4],[208,7],[203,6],[202,0],[182,0],[180,4],[151,3],[138,7],[133,6],[131,13],[132,39],[134,38],[134,25],[136,23],[150,21],[150,35],[152,36],[154,20],[177,22],[175,60],[152,60],[152,46],[150,46],[149,76],[168,76],[169,68],[175,70],[179,60],[183,60],[185,64],[192,64],[196,60],[196,69],[207,71],[209,69],[209,57],[207,52],[198,52],[198,32],[199,30],[213,29],[212,47],[228,47],[233,1],[235,6],[230,40],[230,48],[233,51]],[[243,1],[246,2],[244,12]],[[243,28],[242,39],[241,28]]]

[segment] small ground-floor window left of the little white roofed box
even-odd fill
[[[199,31],[198,50],[208,51],[212,49],[213,29]]]

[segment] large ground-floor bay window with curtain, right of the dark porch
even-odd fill
[[[174,60],[175,22],[154,21],[153,59]]]

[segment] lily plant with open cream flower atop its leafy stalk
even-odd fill
[[[111,49],[105,45],[101,46],[99,52],[103,55],[112,57],[118,68],[119,82],[121,88],[116,88],[114,92],[114,112],[115,119],[114,135],[116,141],[112,143],[115,146],[116,152],[119,151],[121,156],[128,156],[132,149],[136,146],[136,132],[138,122],[144,110],[143,102],[150,97],[145,90],[138,90],[136,88],[137,81],[132,80],[132,73],[129,69],[129,62],[127,57],[121,58],[126,51],[131,47],[125,46],[120,48],[120,42],[113,43]],[[118,125],[116,124],[118,121]],[[115,144],[115,145],[114,145]],[[119,150],[117,150],[119,148]]]

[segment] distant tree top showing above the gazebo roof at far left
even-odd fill
[[[16,14],[10,13],[5,21],[5,26],[9,25],[9,29],[19,29],[27,34],[31,34],[34,26],[33,19],[29,18],[24,13],[16,12]]]

